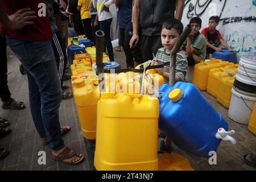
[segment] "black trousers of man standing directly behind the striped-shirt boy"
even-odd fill
[[[158,52],[158,49],[163,47],[161,42],[161,36],[160,35],[154,35],[154,36],[141,36],[141,53],[143,57],[143,62],[152,60],[153,59],[153,53],[156,55],[156,52]]]

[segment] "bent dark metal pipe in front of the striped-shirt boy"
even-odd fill
[[[170,57],[170,77],[169,77],[169,85],[170,86],[174,86],[174,84],[175,84],[176,54],[179,51],[181,45],[184,43],[185,39],[187,39],[192,28],[193,27],[190,24],[188,24],[185,27],[185,30],[180,35],[180,38],[177,40],[176,44],[172,48],[171,57]]]

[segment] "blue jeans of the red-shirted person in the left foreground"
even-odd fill
[[[60,133],[61,86],[51,40],[28,42],[7,38],[7,44],[27,69],[30,110],[40,138],[47,137],[52,150],[64,147]]]

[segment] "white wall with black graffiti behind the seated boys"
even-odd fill
[[[202,28],[208,27],[210,16],[220,16],[217,30],[229,46],[237,51],[237,58],[256,47],[256,1],[255,0],[185,0],[182,22],[199,16]],[[200,30],[200,31],[201,31]]]

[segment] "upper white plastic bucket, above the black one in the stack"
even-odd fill
[[[256,85],[256,60],[242,56],[239,61],[237,80],[248,85]]]

